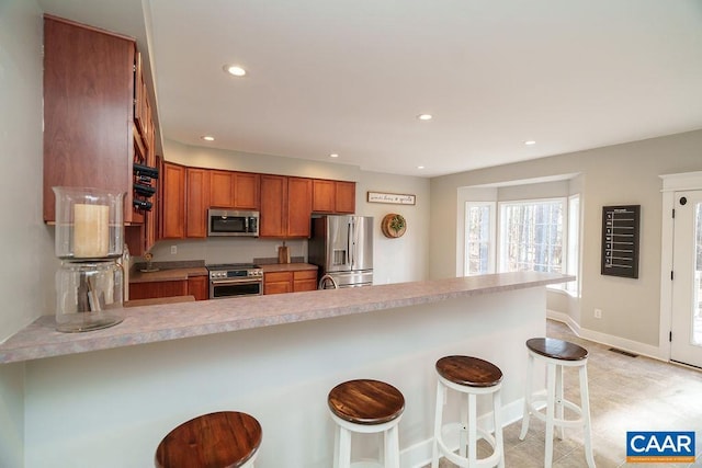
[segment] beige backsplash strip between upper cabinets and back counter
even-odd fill
[[[203,260],[210,263],[261,263],[278,262],[280,239],[222,238],[204,240],[161,240],[154,246],[152,262],[176,262]],[[291,261],[307,260],[307,240],[285,240],[290,247]],[[174,252],[174,253],[172,253]],[[268,262],[267,259],[271,259]],[[274,260],[274,261],[273,261]],[[139,262],[143,259],[138,259]]]

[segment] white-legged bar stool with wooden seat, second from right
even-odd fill
[[[441,456],[461,467],[505,466],[502,423],[500,420],[500,388],[502,372],[496,365],[469,356],[446,356],[437,361],[437,414],[434,419],[434,441],[431,467],[439,466]],[[443,424],[443,407],[448,401],[448,389],[466,396],[461,409],[461,421]],[[477,426],[476,399],[479,395],[492,396],[494,435]],[[492,454],[477,458],[477,436],[485,438],[492,447]],[[458,454],[449,447],[446,441],[457,442]]]

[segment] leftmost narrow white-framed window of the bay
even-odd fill
[[[464,276],[495,273],[495,202],[466,202]]]

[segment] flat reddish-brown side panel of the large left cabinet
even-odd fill
[[[44,18],[44,220],[53,186],[124,192],[132,222],[134,60],[122,36]]]

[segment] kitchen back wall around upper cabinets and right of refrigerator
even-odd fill
[[[356,182],[356,215],[374,217],[374,283],[400,283],[426,279],[429,271],[428,251],[430,228],[429,180],[405,175],[365,172],[358,167],[338,163],[306,161],[267,155],[191,147],[167,140],[163,158],[191,167],[228,169],[282,175],[335,179]],[[367,191],[408,193],[417,203],[388,205],[367,203]],[[407,219],[407,232],[398,239],[382,235],[381,220],[389,213],[399,213]],[[206,262],[249,262],[254,258],[276,256],[280,239],[201,239],[168,240],[152,249],[154,261],[205,260]],[[292,256],[307,255],[306,240],[290,240]],[[177,246],[178,254],[170,253]]]

